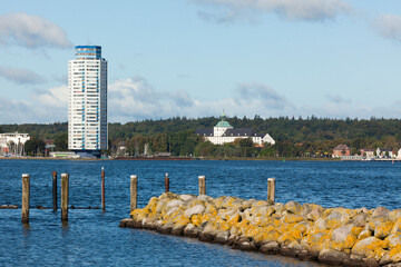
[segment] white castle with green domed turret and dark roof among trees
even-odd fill
[[[213,128],[203,128],[196,130],[196,134],[215,145],[233,142],[237,138],[251,138],[257,146],[267,142],[274,145],[274,139],[268,134],[257,134],[250,128],[234,128],[227,121],[225,115],[222,115],[221,121]]]

